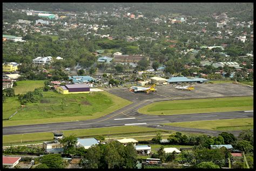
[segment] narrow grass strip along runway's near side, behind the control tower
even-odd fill
[[[123,134],[123,136],[129,133],[139,133],[139,132],[154,132],[161,131],[159,129],[153,129],[149,127],[140,127],[140,126],[118,126],[118,127],[104,127],[99,129],[83,129],[83,130],[71,130],[71,131],[63,131],[65,136],[69,136],[70,134],[75,134],[77,137],[90,137],[90,136],[98,136],[104,135],[107,138],[108,135],[111,134]],[[153,133],[152,133],[153,134]],[[116,137],[116,135],[114,136]],[[37,141],[45,141],[52,140],[53,134],[51,132],[41,132],[41,133],[27,133],[27,134],[14,134],[3,136],[3,144],[8,145],[10,143],[21,143],[22,142],[35,142]]]

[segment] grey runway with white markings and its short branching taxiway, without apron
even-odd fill
[[[253,112],[235,111],[218,113],[195,113],[186,115],[156,116],[143,115],[138,113],[138,109],[152,101],[147,100],[141,103],[133,103],[122,109],[114,111],[109,115],[98,119],[83,120],[77,122],[34,124],[3,127],[3,135],[23,134],[36,132],[50,132],[61,130],[89,129],[97,127],[124,126],[125,124],[153,125],[173,122],[190,122],[196,120],[214,120],[214,119],[234,119],[234,118],[252,118]],[[129,119],[130,118],[130,119]],[[131,119],[132,118],[132,119]],[[117,120],[115,120],[117,119]]]

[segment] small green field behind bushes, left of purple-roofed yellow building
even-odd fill
[[[17,81],[17,86],[14,88],[15,94],[23,94],[28,91],[33,91],[35,88],[44,87],[45,80],[23,80]]]

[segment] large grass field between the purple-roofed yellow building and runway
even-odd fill
[[[48,91],[40,102],[30,103],[11,120],[4,120],[3,126],[95,119],[131,103],[108,92],[62,95]]]

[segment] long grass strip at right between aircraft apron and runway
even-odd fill
[[[156,102],[140,108],[148,115],[177,115],[205,112],[252,110],[253,97],[225,97]]]

